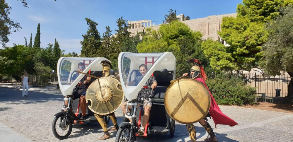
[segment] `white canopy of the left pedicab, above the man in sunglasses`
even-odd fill
[[[84,74],[79,76],[71,82],[72,77],[78,71],[78,63],[82,62],[85,65],[84,73],[102,72],[101,61],[108,60],[106,58],[79,58],[79,57],[61,57],[57,64],[57,75],[60,90],[64,96],[71,95],[73,88],[79,83]],[[109,61],[109,60],[108,60]],[[110,61],[111,62],[111,61]]]

